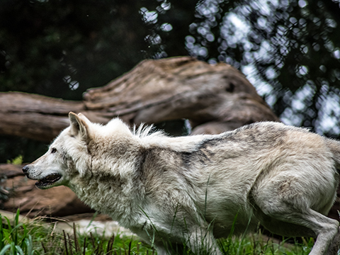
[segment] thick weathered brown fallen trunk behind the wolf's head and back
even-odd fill
[[[0,93],[0,134],[50,141],[69,125],[69,111],[84,113],[97,123],[119,116],[130,125],[186,118],[193,134],[278,121],[237,69],[174,57],[145,60],[106,86],[90,89],[83,101]]]

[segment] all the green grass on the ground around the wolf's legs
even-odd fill
[[[54,231],[53,224],[47,224],[42,220],[19,222],[19,211],[12,221],[2,215],[0,217],[0,255],[157,254],[152,247],[140,242],[137,237],[114,234],[110,239],[106,239],[96,233],[85,236],[77,233],[76,227],[72,234],[57,233]],[[257,233],[245,234],[241,238],[230,235],[227,239],[219,240],[219,243],[223,254],[230,255],[307,255],[314,244],[313,239],[302,239],[302,244],[287,244],[286,241],[276,243],[273,239]],[[186,254],[191,252],[187,251]]]

